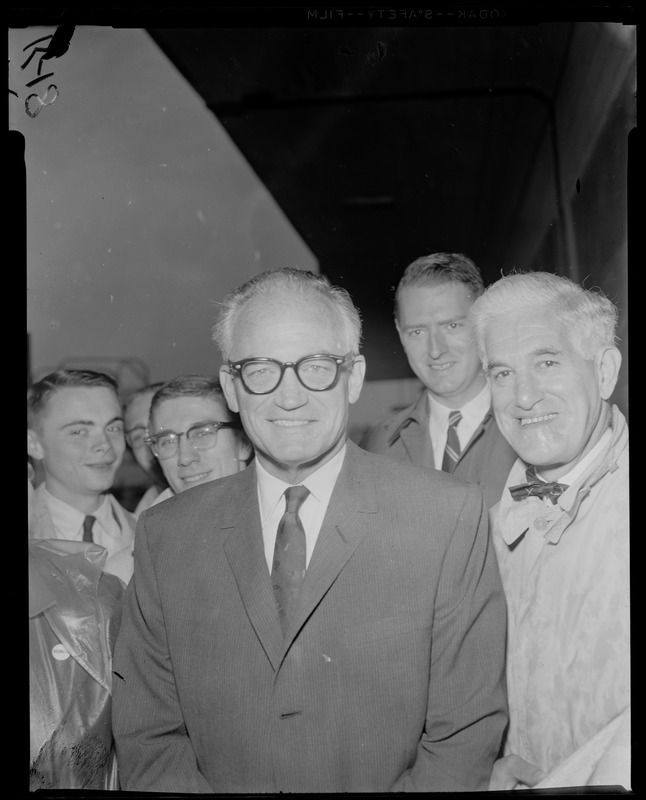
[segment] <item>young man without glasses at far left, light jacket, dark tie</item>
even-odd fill
[[[126,443],[117,383],[94,370],[57,370],[27,395],[27,453],[44,480],[35,489],[30,537],[92,542],[105,570],[133,570],[135,520],[110,493]]]

